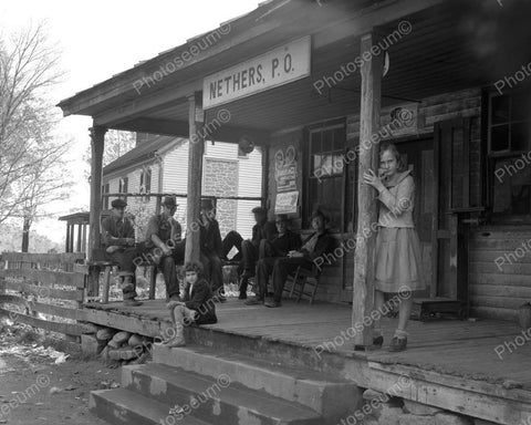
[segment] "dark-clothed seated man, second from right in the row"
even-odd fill
[[[301,238],[291,231],[288,216],[280,214],[277,216],[277,236],[271,241],[264,239],[260,243],[260,259],[257,263],[257,284],[254,287],[256,296],[246,301],[247,305],[263,304],[268,292],[269,276],[273,270],[278,258],[287,257],[288,252],[301,248]]]

